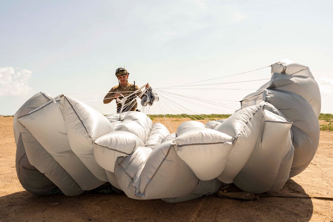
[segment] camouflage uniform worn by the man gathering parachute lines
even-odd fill
[[[114,96],[116,93],[119,92],[119,93],[123,94],[124,96],[127,96],[127,95],[131,94],[133,91],[138,90],[138,89],[139,89],[139,87],[137,85],[135,85],[134,89],[133,89],[133,84],[129,83],[129,82],[127,82],[126,86],[122,86],[122,84],[119,83],[118,86],[114,86],[114,87],[112,87],[112,89],[109,90],[109,93],[106,94],[106,96],[104,97],[104,101],[105,101],[105,103],[110,103],[112,100],[115,99]],[[142,91],[138,90],[136,95],[140,95],[140,93],[142,93]],[[119,97],[119,98],[121,99],[122,97]],[[134,100],[134,101],[132,103],[130,103],[131,100]],[[116,104],[117,104],[117,113],[119,113],[122,104],[118,103],[118,102],[116,102]],[[138,107],[137,101],[134,99],[134,96],[133,97],[131,96],[125,102],[125,105],[123,107],[123,112],[136,111],[137,107]]]

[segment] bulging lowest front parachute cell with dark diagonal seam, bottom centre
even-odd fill
[[[142,199],[182,197],[190,194],[197,183],[198,178],[179,158],[169,140],[149,155],[140,178],[134,183],[135,195]]]

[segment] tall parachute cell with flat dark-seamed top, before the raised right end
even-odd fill
[[[286,120],[267,110],[263,112],[265,125],[262,138],[257,140],[257,144],[246,162],[243,169],[234,179],[234,184],[242,190],[252,193],[264,193],[273,187],[275,183],[285,184],[289,178],[293,150],[290,128],[291,121]],[[282,160],[289,156],[287,167],[283,172],[279,172]],[[281,179],[277,175],[281,175]],[[278,190],[274,190],[278,191]]]

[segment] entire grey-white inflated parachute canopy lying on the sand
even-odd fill
[[[184,122],[171,134],[141,112],[103,116],[66,95],[38,93],[14,116],[19,181],[36,195],[111,183],[131,198],[167,202],[228,183],[278,191],[317,150],[321,101],[308,67],[288,59],[271,68],[271,80],[228,119]]]

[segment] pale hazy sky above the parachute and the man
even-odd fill
[[[114,101],[110,106],[98,99],[118,84],[114,73],[124,66],[131,83],[161,88],[286,58],[309,66],[321,89],[322,112],[333,113],[332,8],[328,0],[0,0],[0,114],[14,114],[40,91],[68,94],[89,101],[103,114],[112,112]],[[197,84],[267,78],[270,68]],[[166,89],[186,95],[180,97],[186,101],[187,95],[196,100],[187,103],[162,92],[162,100],[149,112],[182,113],[177,108],[184,107],[197,113],[233,113],[239,106],[233,101],[266,81]],[[218,106],[210,104],[217,101]]]

